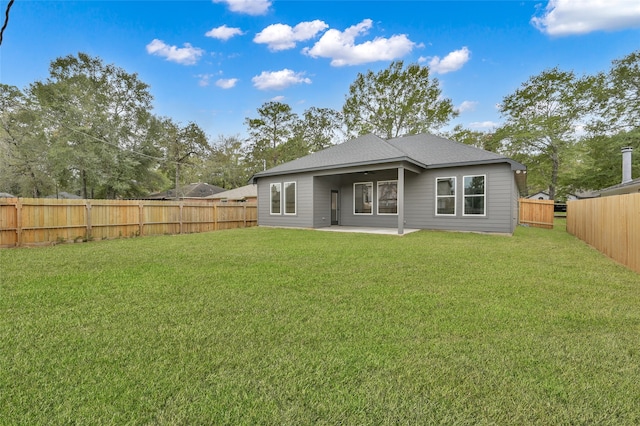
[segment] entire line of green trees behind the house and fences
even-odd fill
[[[0,84],[0,192],[136,198],[184,182],[230,189],[358,135],[428,132],[514,158],[528,166],[530,191],[562,198],[619,183],[620,149],[640,150],[640,51],[596,75],[553,68],[529,78],[503,98],[504,124],[490,132],[443,130],[458,111],[427,66],[402,61],[358,74],[341,111],[298,115],[266,102],[245,118],[246,139],[212,140],[196,123],[152,114],[152,102],[137,74],[84,53],[52,61],[48,78],[23,90]]]

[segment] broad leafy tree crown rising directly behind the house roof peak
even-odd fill
[[[349,134],[390,139],[436,132],[457,116],[438,80],[429,78],[429,67],[403,66],[397,61],[378,73],[358,74],[342,108]]]

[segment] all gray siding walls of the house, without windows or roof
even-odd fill
[[[379,215],[377,212],[378,182],[396,180],[395,165],[386,170],[375,170],[367,175],[341,170],[335,175],[314,176],[301,173],[258,179],[258,224],[261,226],[283,226],[320,228],[331,225],[331,191],[339,191],[339,224],[343,226],[366,226],[395,228],[397,215]],[[349,173],[351,172],[351,173]],[[464,176],[486,176],[486,214],[464,216]],[[436,216],[435,182],[437,177],[456,178],[455,216]],[[271,215],[269,191],[271,183],[296,182],[296,215]],[[373,184],[373,213],[354,214],[353,184]],[[415,173],[405,170],[404,227],[472,232],[513,233],[517,224],[518,190],[511,166],[507,163],[450,167],[423,170]]]

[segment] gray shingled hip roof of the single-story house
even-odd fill
[[[424,169],[509,163],[512,170],[526,170],[524,165],[503,155],[431,134],[403,136],[388,141],[368,134],[256,173],[251,181],[264,176],[398,161]],[[518,186],[521,190],[524,188],[524,173]]]

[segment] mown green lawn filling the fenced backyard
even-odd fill
[[[568,235],[0,251],[0,424],[638,424],[640,276]]]

